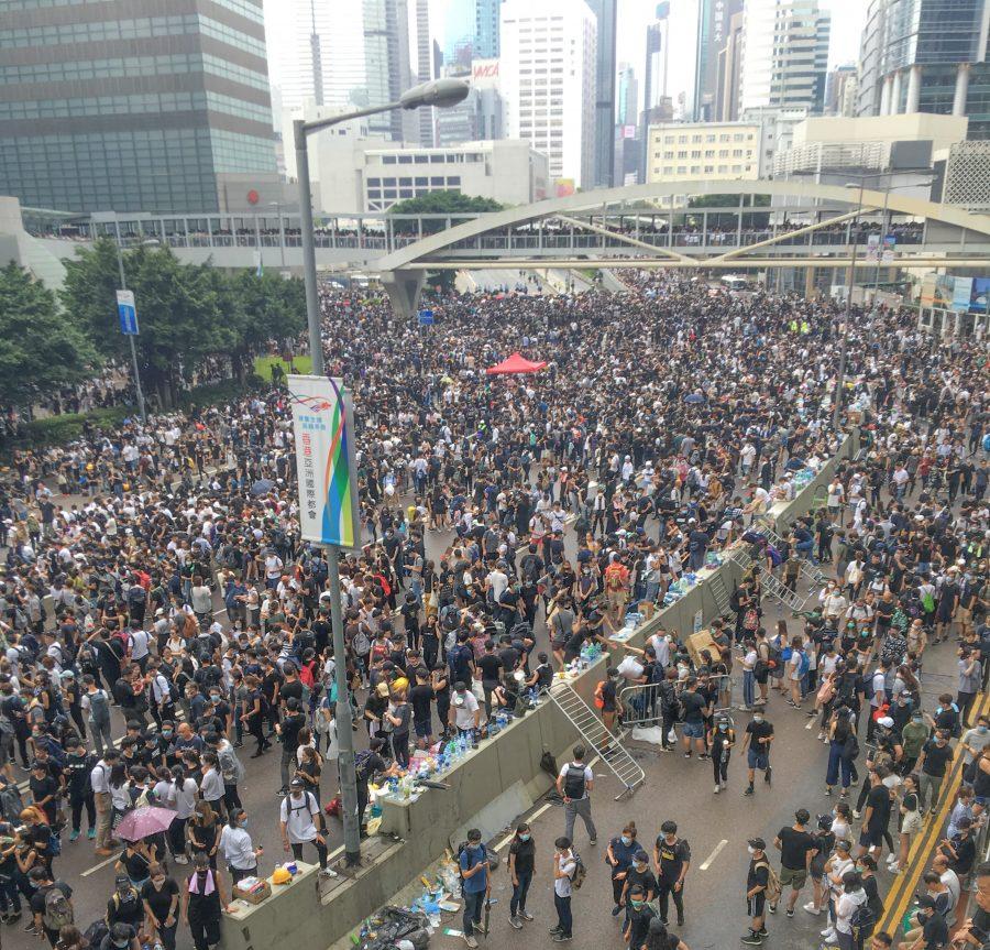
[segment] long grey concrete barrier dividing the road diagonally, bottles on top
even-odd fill
[[[838,462],[854,456],[858,447],[858,434],[854,432],[835,459],[794,501],[776,505],[769,512],[779,529],[811,509],[816,490],[828,484]],[[688,635],[698,611],[702,624],[710,623],[718,613],[708,582],[716,574],[726,590],[732,591],[741,569],[726,561],[706,572],[701,583],[644,623],[629,642],[641,646],[661,626]],[[622,647],[613,651],[614,656],[620,653]],[[609,657],[602,657],[572,681],[586,702],[591,703],[595,686],[610,662]],[[280,941],[330,947],[441,858],[466,827],[476,823],[494,834],[528,810],[552,782],[540,768],[543,754],[551,753],[560,763],[578,739],[576,730],[553,702],[542,700],[444,775],[449,789],[430,789],[415,800],[384,801],[381,833],[386,837],[375,844],[365,844],[366,863],[353,878],[334,882],[322,897],[315,885],[304,880],[299,883],[305,886],[276,891],[250,911],[226,916],[224,950],[271,950]]]

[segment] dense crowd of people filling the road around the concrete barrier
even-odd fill
[[[238,787],[249,740],[252,757],[273,743],[279,750],[282,802],[272,817],[285,851],[302,858],[311,847],[334,873],[322,806],[334,797],[327,766],[338,746],[337,663],[362,723],[364,827],[369,786],[405,767],[411,750],[483,736],[498,709],[514,711],[586,643],[604,642],[629,605],[661,603],[710,552],[737,543],[755,567],[734,592],[733,616],[716,627],[719,655],[695,665],[685,632],[664,631],[638,664],[637,681],[661,685],[664,736],[680,728],[685,754],[711,756],[716,791],[725,789],[735,734],[716,713],[712,684],[741,669],[754,712],[741,739],[744,790],[755,793],[756,773],[771,777],[766,709],[776,688],[820,717],[825,784],[845,796],[867,720],[864,742],[876,751],[859,760],[862,804],[851,815],[865,817],[855,860],[869,877],[884,841],[903,860],[912,816],[937,802],[944,750],[974,724],[986,683],[978,348],[933,353],[909,314],[856,310],[845,328],[844,402],[868,423],[868,454],[839,468],[820,511],[770,544],[759,516],[792,499],[795,474],[821,468],[842,441],[832,425],[838,305],[652,273],[630,277],[624,294],[438,297],[430,328],[407,326],[373,294],[328,290],[321,305],[328,374],[352,387],[359,418],[363,536],[340,567],[343,657],[331,644],[326,559],[299,537],[284,391],[153,415],[144,426],[90,427],[69,445],[14,454],[0,500],[0,919],[16,920],[26,903],[25,926],[61,950],[95,939],[106,950],[138,939],[174,950],[183,921],[206,950],[219,939],[229,878],[257,867]],[[514,350],[539,356],[547,370],[486,375]],[[769,629],[766,575],[796,582],[804,559],[834,582],[802,630]],[[949,633],[964,640],[958,695],[928,709],[922,655]],[[609,723],[623,714],[622,678],[614,673],[603,690]],[[981,820],[990,749],[983,756],[980,728],[965,732],[977,804],[965,829],[958,816],[959,833]],[[569,780],[556,939],[571,936],[573,821],[590,822],[580,802],[591,783],[579,795]],[[135,841],[118,837],[145,804],[164,805],[175,820]],[[856,850],[844,807],[818,831],[833,834],[835,849]],[[906,818],[895,851],[888,822],[898,809]],[[72,888],[56,873],[63,848],[80,847],[84,813],[96,853],[117,855],[120,874],[92,932],[80,932],[86,921],[73,919]],[[670,834],[676,858],[676,829]],[[782,832],[781,847],[791,838]],[[750,842],[756,882],[769,866],[759,842]],[[609,848],[614,867],[638,866],[637,849]],[[860,893],[862,882],[845,863],[848,849],[846,859],[831,851],[821,841],[814,853],[804,849],[812,864],[824,862],[811,875],[818,884],[809,913],[829,907],[826,936],[848,950],[854,911],[843,894]],[[783,853],[793,863],[790,843]],[[657,854],[658,886],[670,885],[681,918],[682,888],[661,839]],[[191,875],[176,882],[173,865],[190,861]],[[678,938],[657,936],[659,924],[630,910],[635,895],[647,905],[656,893],[650,873],[639,892],[616,892],[617,916],[630,946],[676,948]],[[845,881],[849,873],[855,881]],[[758,883],[749,889],[746,942],[759,942],[765,903]],[[800,889],[788,897],[789,915]],[[521,926],[525,891],[517,897]],[[666,928],[666,897],[660,911]],[[970,932],[980,926],[975,917]],[[474,939],[470,926],[465,937]]]

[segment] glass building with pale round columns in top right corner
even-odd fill
[[[968,116],[990,139],[990,0],[870,0],[860,46],[859,116]]]

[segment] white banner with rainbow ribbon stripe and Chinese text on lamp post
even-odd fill
[[[288,376],[304,540],[360,544],[354,413],[339,379]]]

